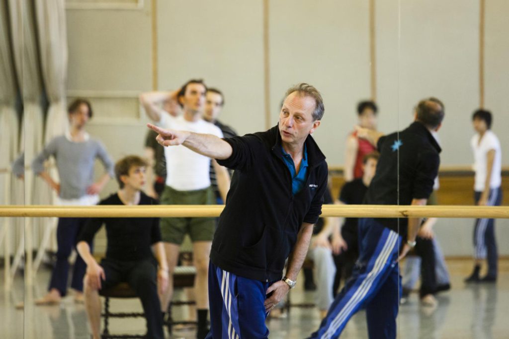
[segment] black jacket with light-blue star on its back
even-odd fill
[[[438,175],[440,146],[418,121],[401,132],[381,137],[380,158],[364,199],[372,205],[410,205],[412,199],[428,199]],[[377,219],[385,227],[405,236],[408,219]]]

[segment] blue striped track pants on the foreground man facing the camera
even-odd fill
[[[206,339],[267,338],[265,292],[273,283],[242,278],[210,262],[210,332]]]

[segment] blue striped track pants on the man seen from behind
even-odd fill
[[[348,320],[364,307],[370,338],[396,337],[401,236],[371,218],[359,219],[358,232],[359,259],[353,274],[312,338],[337,338]]]

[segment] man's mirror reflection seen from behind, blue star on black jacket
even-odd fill
[[[443,116],[443,104],[429,98],[417,104],[415,121],[403,131],[380,136],[378,132],[367,130],[364,134],[364,130],[358,130],[358,135],[377,145],[380,152],[366,204],[426,204],[438,174],[441,151],[431,131],[440,128]],[[359,259],[350,280],[311,337],[338,337],[362,307],[371,338],[396,337],[401,294],[398,261],[415,246],[420,222],[420,218],[359,219]]]

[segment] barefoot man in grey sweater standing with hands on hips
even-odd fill
[[[90,138],[84,127],[92,117],[92,107],[87,100],[76,99],[68,109],[69,132],[55,137],[34,159],[34,173],[43,178],[58,193],[62,205],[95,205],[99,192],[108,180],[115,176],[113,162],[106,149],[97,140]],[[60,182],[55,182],[44,168],[44,162],[53,156],[59,172]],[[106,171],[94,182],[94,163],[98,158]],[[51,274],[48,294],[36,300],[36,304],[59,303],[67,293],[69,256],[76,244],[77,236],[86,222],[85,218],[59,218],[56,229],[56,264]],[[76,291],[75,300],[83,301],[83,276],[87,265],[80,256],[74,263],[71,288]]]

